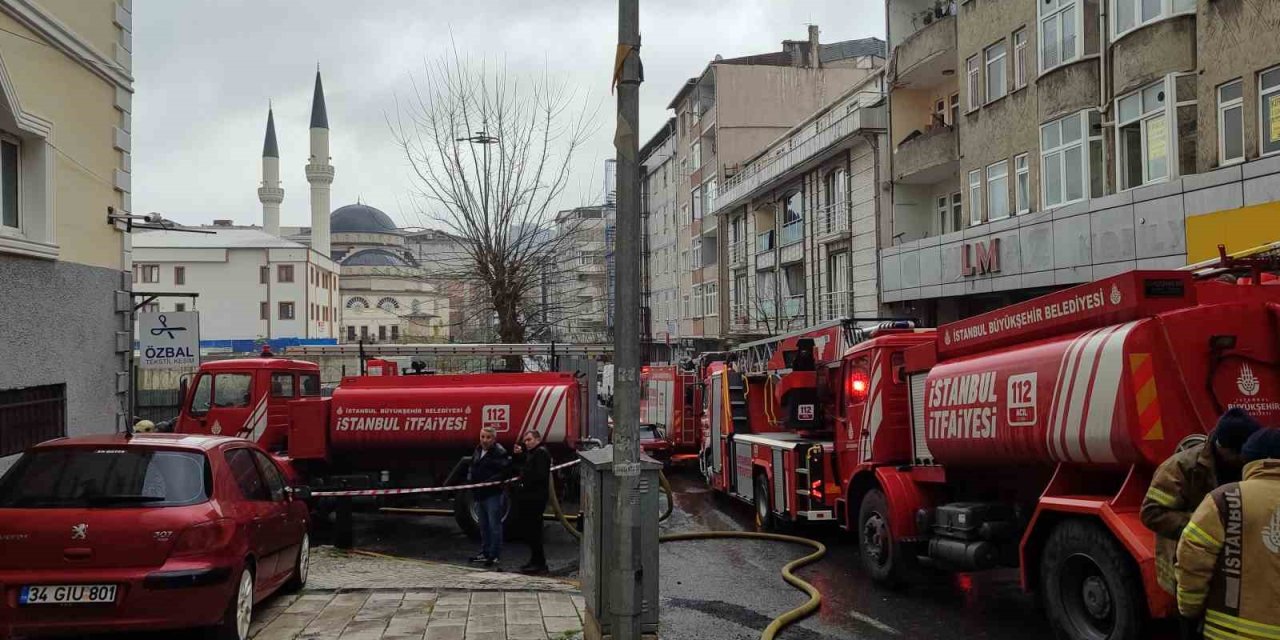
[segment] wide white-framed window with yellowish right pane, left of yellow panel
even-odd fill
[[[1165,104],[1165,81],[1116,100],[1116,173],[1121,189],[1169,178]]]

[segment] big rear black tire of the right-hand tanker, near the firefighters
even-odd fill
[[[1143,637],[1146,596],[1128,552],[1101,525],[1068,520],[1041,554],[1041,596],[1060,639]]]

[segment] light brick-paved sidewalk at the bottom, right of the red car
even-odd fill
[[[536,591],[306,591],[253,612],[253,640],[570,640],[582,598]]]

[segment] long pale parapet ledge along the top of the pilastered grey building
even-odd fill
[[[820,160],[820,154],[859,131],[886,128],[884,106],[881,104],[883,97],[883,93],[876,91],[859,92],[837,105],[847,105],[844,106],[845,113],[828,111],[796,131],[792,138],[767,150],[724,180],[710,204],[712,211],[736,206],[774,180],[808,169],[808,163]]]

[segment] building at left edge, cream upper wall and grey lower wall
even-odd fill
[[[0,1],[0,471],[129,419],[131,10]]]

